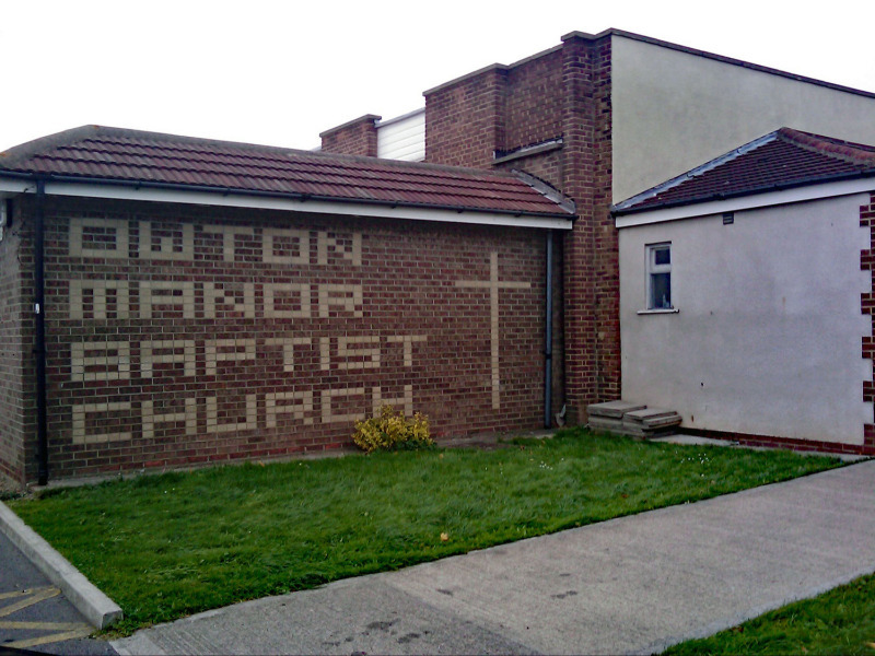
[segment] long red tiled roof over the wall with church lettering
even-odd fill
[[[143,184],[528,216],[573,213],[512,174],[85,126],[0,153],[0,176]],[[546,187],[546,185],[545,185]]]

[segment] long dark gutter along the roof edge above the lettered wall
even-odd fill
[[[0,177],[3,176],[19,178],[19,179],[35,179],[36,174],[22,173],[15,171],[0,171]],[[569,212],[569,210],[565,209],[564,207],[562,208],[562,211],[557,211],[557,212],[526,212],[518,210],[469,208],[455,204],[393,202],[393,201],[377,200],[373,198],[361,198],[361,199],[337,198],[319,194],[300,194],[295,191],[268,191],[258,189],[242,189],[236,187],[211,187],[209,185],[184,185],[179,183],[161,183],[154,180],[119,180],[115,178],[97,178],[97,177],[83,178],[79,176],[57,175],[57,174],[47,174],[44,176],[44,179],[46,180],[46,183],[55,183],[55,184],[69,184],[69,185],[83,185],[83,186],[96,185],[96,186],[130,188],[133,190],[154,189],[161,191],[210,194],[210,195],[220,195],[223,197],[230,197],[230,196],[254,197],[264,199],[293,200],[302,203],[307,201],[318,201],[318,202],[330,202],[345,206],[386,207],[390,209],[409,208],[413,210],[439,210],[439,211],[442,210],[446,212],[456,212],[459,214],[470,212],[474,214],[493,214],[493,215],[503,215],[513,218],[526,216],[532,219],[545,219],[545,220],[562,219],[568,222],[571,222],[575,218],[574,214]],[[49,189],[47,194],[51,194],[51,190]]]

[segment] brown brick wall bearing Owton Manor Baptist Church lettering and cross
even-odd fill
[[[54,478],[541,424],[544,233],[50,199]]]

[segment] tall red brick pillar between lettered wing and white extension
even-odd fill
[[[562,191],[578,203],[565,236],[565,395],[569,422],[620,393],[619,258],[611,201],[610,36],[563,37]]]

